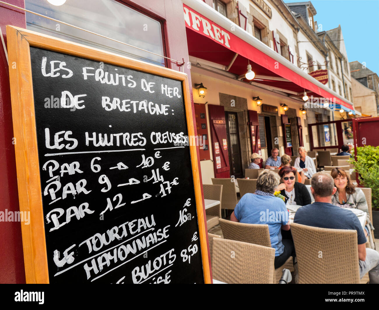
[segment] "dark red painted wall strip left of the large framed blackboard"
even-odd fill
[[[8,3],[24,7],[23,0]],[[6,25],[25,28],[23,11],[0,5],[0,28],[6,44]],[[16,64],[17,65],[17,64]],[[0,43],[0,211],[19,211],[16,160],[14,157],[11,94],[8,63]],[[16,141],[17,142],[17,141]],[[0,222],[0,283],[25,283],[21,226],[19,222]]]

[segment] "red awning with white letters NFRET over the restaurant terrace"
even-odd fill
[[[287,67],[282,64],[282,62],[285,62],[284,59],[280,59],[279,62],[277,59],[268,56],[267,53],[233,34],[233,31],[226,30],[184,4],[183,9],[188,54],[190,56],[228,66],[235,53],[237,53],[238,56],[229,69],[230,73],[236,75],[246,73],[247,61],[249,60],[255,75],[267,76],[267,78],[253,79],[252,82],[277,87],[283,89],[284,92],[287,90],[289,94],[302,94],[305,89],[308,97],[330,98],[331,102],[353,109],[350,103],[337,97],[336,94],[333,95],[331,91],[329,92],[320,87],[321,83],[316,79],[310,77],[309,80],[302,76],[304,73],[295,72],[300,70],[295,65],[288,63]],[[236,27],[230,21],[230,27],[232,28],[233,26]],[[270,49],[270,51],[272,50]],[[278,54],[278,56],[280,55]],[[291,66],[293,66],[292,69]],[[270,79],[271,77],[273,79]],[[288,81],[283,81],[283,78]]]

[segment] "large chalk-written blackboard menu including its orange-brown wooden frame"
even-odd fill
[[[27,283],[210,283],[187,76],[7,39]]]

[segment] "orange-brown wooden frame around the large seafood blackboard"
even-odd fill
[[[26,282],[49,283],[41,180],[38,164],[30,47],[44,48],[45,50],[94,61],[103,61],[108,64],[181,81],[188,135],[194,136],[188,77],[182,72],[11,25],[6,26],[6,33],[20,212],[30,211],[30,225],[21,225]],[[199,181],[196,145],[190,145],[189,150],[191,154],[204,282],[209,284],[211,283],[210,266],[208,262],[207,234],[204,223],[204,206]]]

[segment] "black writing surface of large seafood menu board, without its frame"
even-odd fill
[[[181,81],[30,48],[50,283],[204,283]]]

